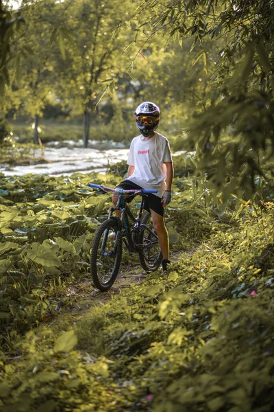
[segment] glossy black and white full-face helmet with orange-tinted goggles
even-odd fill
[[[148,137],[159,124],[160,108],[153,102],[143,102],[136,108],[134,117],[140,133]]]

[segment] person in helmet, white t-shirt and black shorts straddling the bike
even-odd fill
[[[157,194],[145,198],[162,251],[162,270],[169,261],[169,235],[164,225],[164,207],[171,202],[173,162],[169,141],[155,132],[160,120],[160,108],[153,102],[141,103],[134,113],[140,135],[134,137],[129,149],[127,179],[117,187],[122,189],[156,189]],[[116,204],[117,196],[113,201]]]

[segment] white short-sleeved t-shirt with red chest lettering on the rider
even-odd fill
[[[134,137],[130,145],[127,164],[134,166],[134,172],[127,180],[144,189],[156,189],[155,195],[162,197],[166,190],[164,162],[172,162],[169,141],[157,132],[145,141],[141,137]]]

